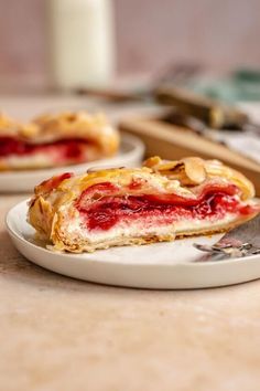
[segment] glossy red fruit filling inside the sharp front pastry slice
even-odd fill
[[[107,231],[117,224],[128,226],[141,222],[142,228],[167,225],[182,220],[217,221],[227,213],[250,214],[234,184],[205,186],[196,198],[177,194],[117,194],[119,189],[109,182],[93,186],[76,201],[76,208],[88,231]]]

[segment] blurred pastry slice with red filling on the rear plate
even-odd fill
[[[118,147],[119,134],[104,115],[44,115],[22,125],[0,114],[0,171],[94,161]]]

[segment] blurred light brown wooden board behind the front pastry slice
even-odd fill
[[[156,118],[123,119],[119,128],[139,136],[147,146],[147,156],[159,155],[174,160],[187,156],[219,159],[243,172],[254,183],[260,197],[260,165],[221,144]]]

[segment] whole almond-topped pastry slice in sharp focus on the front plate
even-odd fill
[[[260,210],[252,183],[216,160],[150,158],[142,168],[64,173],[35,188],[29,222],[74,253],[226,231]]]

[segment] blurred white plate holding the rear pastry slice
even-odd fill
[[[0,172],[0,192],[32,192],[34,186],[56,173],[65,171],[80,173],[85,172],[89,167],[94,166],[139,166],[143,158],[143,152],[144,145],[138,137],[123,134],[118,155],[110,159],[102,159],[91,161],[89,163],[65,166],[44,170]]]

